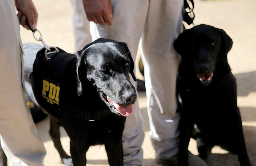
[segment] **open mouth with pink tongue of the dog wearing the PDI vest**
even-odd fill
[[[109,96],[104,94],[104,92],[100,91],[100,94],[103,100],[106,102],[106,104],[108,104],[108,106],[110,106],[116,114],[121,114],[122,116],[128,116],[132,114],[132,104],[128,106],[119,105],[116,102],[114,102],[111,98],[109,98]]]

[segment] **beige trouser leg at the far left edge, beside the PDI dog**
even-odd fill
[[[0,139],[12,166],[43,166],[46,154],[22,86],[22,49],[14,0],[0,3]]]

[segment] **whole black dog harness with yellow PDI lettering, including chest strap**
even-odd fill
[[[68,62],[76,58],[74,54],[69,54],[57,48],[58,52],[45,54],[46,48],[42,48],[36,54],[33,65],[34,95],[37,102],[52,116],[63,119],[63,107],[70,116],[83,120],[99,120],[108,116],[110,110],[99,112],[88,112],[76,106],[66,106],[65,101],[60,100],[62,92],[62,78]]]

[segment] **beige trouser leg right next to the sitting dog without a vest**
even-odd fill
[[[182,30],[183,0],[150,0],[142,37],[150,137],[156,157],[170,159],[178,153],[178,123],[175,97],[179,55],[174,39]]]

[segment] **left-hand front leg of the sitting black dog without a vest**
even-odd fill
[[[191,107],[190,107],[191,109]],[[178,166],[188,166],[188,144],[192,136],[194,121],[192,111],[182,109],[180,116],[180,143],[178,152]]]

